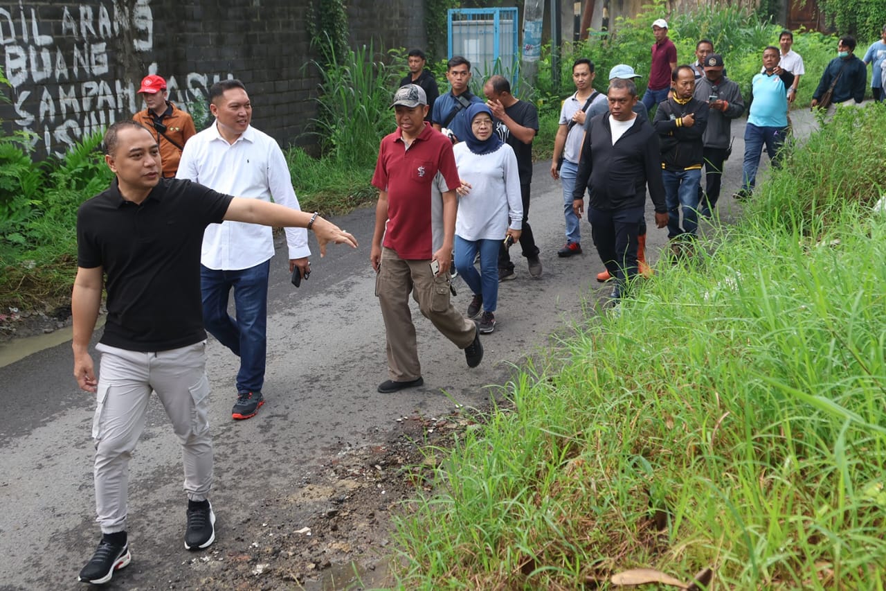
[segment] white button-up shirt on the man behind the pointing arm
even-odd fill
[[[219,193],[271,201],[299,208],[286,158],[276,140],[249,126],[233,144],[215,124],[184,145],[176,178],[187,178]],[[307,230],[286,228],[290,258],[310,256]],[[203,234],[200,262],[210,269],[237,271],[274,256],[274,236],[267,225],[245,222],[210,224]]]

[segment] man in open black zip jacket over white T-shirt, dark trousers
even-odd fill
[[[587,217],[594,244],[610,275],[616,278],[614,298],[637,274],[637,232],[646,189],[656,209],[656,227],[667,225],[662,184],[661,150],[655,130],[633,112],[637,87],[633,80],[613,79],[607,91],[609,112],[597,115],[587,130],[572,192],[572,209],[581,217],[585,188],[590,189]]]

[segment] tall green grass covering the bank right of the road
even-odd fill
[[[400,586],[882,589],[886,172],[851,163],[884,134],[836,117],[695,264],[540,351],[400,516]]]

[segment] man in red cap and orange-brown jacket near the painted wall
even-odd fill
[[[138,94],[144,97],[147,108],[134,114],[132,118],[151,130],[157,138],[163,176],[175,177],[184,143],[197,133],[194,120],[190,118],[190,114],[167,100],[169,93],[166,80],[159,75],[144,76]]]

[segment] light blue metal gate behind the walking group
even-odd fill
[[[501,74],[517,93],[520,51],[516,8],[454,8],[447,15],[448,57],[470,61],[471,86]],[[483,93],[480,92],[480,96]]]

